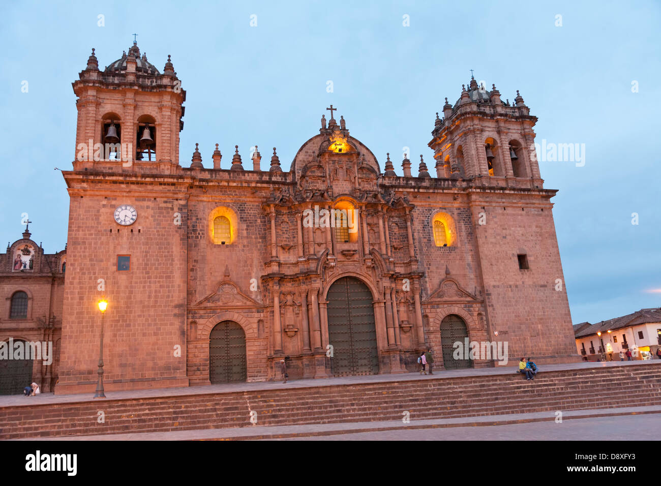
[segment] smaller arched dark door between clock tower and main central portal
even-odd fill
[[[234,321],[217,323],[209,335],[209,381],[245,382],[246,335]]]

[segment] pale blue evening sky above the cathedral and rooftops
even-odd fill
[[[435,113],[445,97],[459,98],[469,69],[488,87],[495,83],[502,99],[512,102],[519,89],[539,117],[537,142],[586,145],[584,167],[540,163],[545,187],[559,189],[554,216],[572,320],[661,305],[661,124],[654,108],[661,99],[661,3],[5,2],[5,240],[19,239],[26,212],[33,239],[48,253],[63,249],[69,197],[54,167],[70,169],[75,155],[71,82],[91,48],[103,69],[128,50],[134,32],[161,71],[172,55],[187,91],[182,165],[190,164],[196,142],[207,167],[215,143],[225,167],[234,145],[247,161],[257,144],[262,168],[276,146],[288,169],[332,103],[382,170],[390,152],[401,174],[403,147],[433,167],[427,143]]]

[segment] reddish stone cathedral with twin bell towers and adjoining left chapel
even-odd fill
[[[506,343],[510,364],[579,360],[557,190],[518,91],[471,78],[403,177],[332,105],[288,171],[275,148],[203,160],[196,144],[180,163],[186,91],[136,43],[104,69],[93,50],[73,91],[66,251],[26,229],[0,272],[0,341],[55,341],[32,363],[44,391],[93,391],[102,322],[108,391],[274,380],[282,360],[290,379],[414,372],[425,350],[435,369],[499,366],[457,359],[469,342]]]

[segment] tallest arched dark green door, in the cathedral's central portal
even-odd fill
[[[329,344],[334,376],[379,372],[373,297],[368,286],[354,277],[336,280],[329,288]]]

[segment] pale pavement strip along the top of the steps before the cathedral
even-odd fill
[[[577,362],[564,364],[548,364],[540,366],[540,374],[545,371],[559,370],[589,370],[590,368],[606,368],[611,366],[634,366],[641,364],[661,364],[660,360],[646,361],[609,361],[609,362]],[[506,375],[516,372],[518,364],[514,361],[508,362],[509,366],[498,366],[498,368],[469,368],[467,370],[439,370],[432,375],[434,378],[459,378],[463,376],[490,376]],[[516,366],[515,366],[516,365]],[[106,391],[106,399],[139,399],[149,397],[172,397],[180,395],[197,395],[205,393],[222,393],[236,391],[258,391],[272,390],[282,388],[303,388],[311,386],[329,386],[329,385],[360,385],[367,383],[383,382],[405,382],[408,380],[425,380],[429,375],[420,375],[418,372],[405,374],[383,374],[371,376],[346,376],[341,378],[325,378],[321,380],[293,380],[287,384],[282,382],[251,382],[224,385],[202,385],[192,387],[176,388],[153,388],[132,391]],[[0,396],[0,407],[9,405],[37,405],[43,403],[73,403],[83,401],[94,401],[93,395],[96,385],[90,385],[88,393],[76,393],[71,395],[54,395],[54,393],[41,393],[34,397],[24,397],[23,395]],[[98,401],[98,399],[97,399]]]

